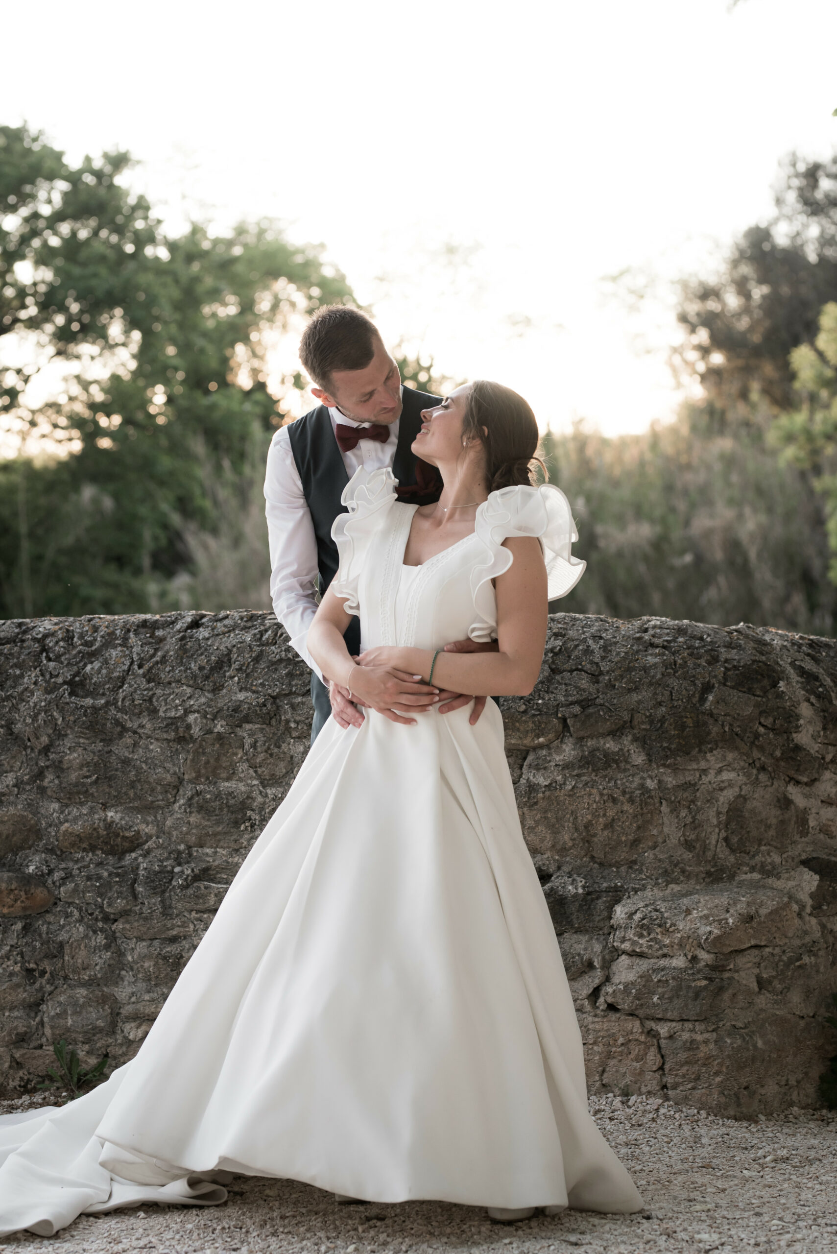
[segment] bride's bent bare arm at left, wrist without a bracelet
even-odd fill
[[[439,688],[427,687],[412,675],[402,675],[392,665],[357,666],[346,648],[343,635],[351,622],[341,597],[328,588],[308,630],[308,652],[325,676],[348,687],[366,705],[392,722],[415,722],[392,707],[408,706],[424,714],[436,703]],[[416,672],[417,673],[417,672]]]

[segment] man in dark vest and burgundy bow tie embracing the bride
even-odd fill
[[[422,409],[437,405],[441,398],[402,387],[398,367],[375,324],[360,310],[345,305],[317,310],[303,332],[299,360],[320,405],[273,436],[264,499],[271,597],[291,645],[312,671],[313,744],[330,714],[341,727],[363,724],[350,692],[320,675],[306,647],[317,611],[317,592],[322,596],[337,573],[331,525],[343,513],[341,494],[361,466],[366,470],[391,466],[398,480],[400,500],[420,505],[439,500],[441,479],[436,468],[417,459],[410,445],[421,428]],[[360,653],[357,617],[352,617],[345,638],[348,652]],[[456,641],[449,647],[471,652],[486,646]],[[475,722],[485,697],[442,692],[440,710],[459,710],[470,701]],[[429,696],[427,705],[431,702]],[[411,711],[403,707],[403,712]],[[392,719],[402,721],[397,712]]]

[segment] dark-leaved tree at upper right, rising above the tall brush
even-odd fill
[[[813,339],[819,310],[836,298],[837,155],[792,154],[773,219],[744,232],[715,280],[682,288],[675,364],[699,381],[715,429],[766,429],[791,406],[789,354]]]

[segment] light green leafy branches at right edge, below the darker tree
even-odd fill
[[[837,301],[823,306],[813,345],[792,351],[791,369],[798,405],[773,423],[771,439],[823,499],[829,578],[837,583]]]

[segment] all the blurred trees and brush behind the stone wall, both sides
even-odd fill
[[[0,127],[0,617],[269,607],[264,456],[303,386],[271,350],[353,296],[273,222],[170,237],[128,166]],[[561,608],[837,635],[837,158],[789,158],[678,317],[675,421],[544,438],[589,563]]]

